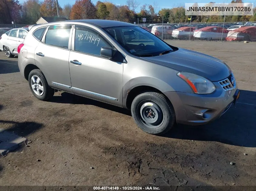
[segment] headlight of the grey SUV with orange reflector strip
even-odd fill
[[[178,72],[177,75],[188,83],[195,94],[211,94],[216,89],[211,81],[201,76],[188,72]]]

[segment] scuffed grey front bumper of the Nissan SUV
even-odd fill
[[[212,94],[163,92],[171,101],[176,122],[187,125],[203,125],[224,114],[234,103],[239,90],[224,91],[217,88]]]

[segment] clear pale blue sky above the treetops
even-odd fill
[[[23,3],[26,0],[19,0],[20,3]],[[43,1],[43,0],[42,0]],[[94,3],[94,5],[96,4],[98,0],[92,0],[92,2]],[[102,2],[105,2],[106,0],[101,0]],[[161,10],[162,8],[173,8],[173,7],[178,7],[181,5],[185,5],[185,3],[207,3],[207,2],[215,2],[215,3],[230,3],[231,0],[137,0],[138,2],[140,2],[140,5],[138,6],[138,8],[135,10],[136,12],[140,11],[140,7],[141,5],[144,4],[148,4],[148,5],[154,5],[154,2],[157,3],[157,7],[158,9],[156,11]],[[116,5],[125,5],[126,4],[126,0],[109,0],[109,2],[112,2]],[[243,0],[243,2],[245,3],[254,3],[254,6],[256,4],[255,0]],[[58,0],[58,3],[61,7],[63,7],[65,4],[70,4],[73,5],[75,3],[75,0]]]

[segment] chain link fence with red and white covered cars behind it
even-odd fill
[[[148,30],[163,40],[256,41],[256,22],[164,23],[142,19],[123,20]],[[0,28],[27,27],[29,24],[0,24]]]

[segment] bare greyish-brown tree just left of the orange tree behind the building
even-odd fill
[[[41,17],[41,2],[39,0],[27,0],[22,4],[22,19],[35,23]]]

